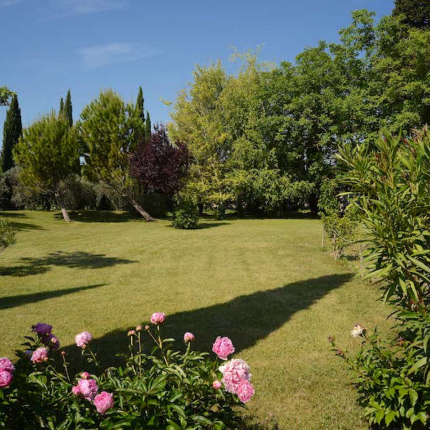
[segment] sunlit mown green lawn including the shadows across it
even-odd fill
[[[354,323],[387,326],[377,289],[356,262],[320,249],[320,221],[204,221],[194,231],[123,213],[3,212],[19,229],[0,255],[0,355],[37,322],[63,346],[89,330],[94,344],[124,348],[126,330],[167,313],[166,330],[193,332],[209,350],[221,334],[252,366],[249,410],[280,429],[364,429],[344,363],[327,336],[354,348]],[[105,359],[109,358],[106,356]]]

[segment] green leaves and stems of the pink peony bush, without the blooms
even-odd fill
[[[70,377],[70,363],[52,348],[49,359],[32,363],[30,356],[46,345],[43,336],[26,336],[25,351],[17,351],[13,382],[0,389],[0,426],[48,429],[241,429],[240,409],[245,405],[224,388],[218,358],[193,351],[190,343],[175,350],[174,339],[163,339],[159,325],[129,333],[129,354],[124,364],[102,370],[87,345],[82,350],[93,374]],[[154,344],[151,353],[143,345]],[[57,360],[56,360],[57,359]],[[63,365],[58,364],[63,361]],[[63,370],[60,370],[63,367]],[[87,379],[98,392],[111,393],[113,405],[96,410],[95,401],[74,395],[73,386]]]

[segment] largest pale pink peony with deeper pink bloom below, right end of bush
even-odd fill
[[[222,382],[229,393],[237,394],[243,403],[254,396],[254,387],[249,382],[251,374],[249,365],[244,360],[233,359],[219,367],[223,374]]]

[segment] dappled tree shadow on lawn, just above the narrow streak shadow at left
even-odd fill
[[[105,254],[91,254],[89,252],[51,252],[47,256],[37,259],[24,257],[20,259],[21,266],[0,268],[0,276],[27,276],[40,275],[49,270],[49,266],[61,266],[68,268],[105,268],[117,264],[137,263],[135,260],[118,259],[117,257],[105,256]]]

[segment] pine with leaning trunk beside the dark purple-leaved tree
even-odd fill
[[[152,221],[136,200],[136,183],[130,176],[130,154],[144,131],[136,107],[124,103],[112,90],[102,91],[84,108],[77,127],[86,148],[84,173],[93,181],[110,185],[147,221]]]

